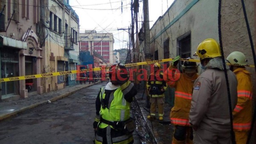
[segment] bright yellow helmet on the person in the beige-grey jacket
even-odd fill
[[[221,56],[221,48],[216,40],[208,38],[198,45],[193,56],[199,56],[201,60],[204,58],[216,58]]]

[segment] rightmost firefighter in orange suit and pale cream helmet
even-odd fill
[[[232,64],[230,70],[236,74],[238,81],[238,101],[233,111],[233,129],[236,144],[246,144],[252,121],[252,90],[251,74],[244,66],[247,60],[242,52],[232,52],[227,56],[227,62]]]

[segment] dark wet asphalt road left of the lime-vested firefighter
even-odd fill
[[[0,144],[93,144],[95,100],[103,84],[0,121]],[[134,144],[140,144],[137,132]]]

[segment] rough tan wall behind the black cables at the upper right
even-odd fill
[[[248,64],[254,65],[247,26],[241,0],[222,1],[221,7],[221,33],[225,58],[234,51],[243,52]],[[244,0],[250,32],[255,49],[255,0]],[[255,69],[247,68],[252,73],[254,87],[256,86]],[[254,89],[253,94],[256,94]]]

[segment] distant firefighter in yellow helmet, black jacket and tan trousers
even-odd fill
[[[160,63],[154,63],[154,72],[148,77],[147,89],[150,96],[150,115],[148,119],[155,119],[156,107],[158,107],[159,120],[163,120],[164,91],[166,90],[166,82],[163,80],[163,73],[160,72]]]

